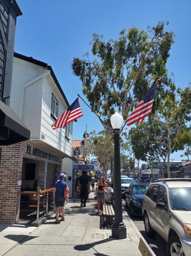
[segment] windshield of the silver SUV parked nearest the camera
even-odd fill
[[[191,210],[191,187],[169,188],[169,193],[173,209]]]

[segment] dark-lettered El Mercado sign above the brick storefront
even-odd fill
[[[47,159],[47,160],[50,160],[50,161],[53,161],[53,162],[61,163],[60,157],[57,157],[55,155],[49,154],[49,153],[47,153],[43,150],[36,149],[36,148],[33,148],[31,150],[30,146],[27,146],[26,154],[33,155],[34,157],[40,157],[40,158],[43,158],[43,159]]]

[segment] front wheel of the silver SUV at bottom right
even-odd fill
[[[173,255],[185,256],[183,247],[181,245],[181,242],[178,236],[172,236],[171,238],[169,238],[167,248],[168,248],[168,254],[167,254],[168,256],[173,256]]]

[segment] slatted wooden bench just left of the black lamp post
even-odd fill
[[[105,205],[103,205],[103,213],[102,216],[105,217],[105,221],[102,224],[103,227],[106,225],[113,224],[113,218],[115,217],[115,210],[114,210],[115,200],[114,200],[114,193],[113,198],[111,201],[106,201]]]

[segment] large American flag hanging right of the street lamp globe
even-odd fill
[[[142,122],[146,116],[151,114],[152,104],[155,97],[156,82],[154,82],[146,93],[144,98],[139,102],[134,111],[130,114],[128,119],[125,121],[127,126],[131,124]]]

